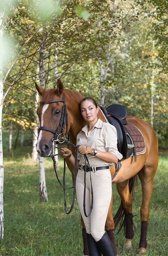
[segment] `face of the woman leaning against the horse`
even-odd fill
[[[97,114],[99,111],[99,107],[96,108],[96,106],[93,104],[91,100],[85,100],[81,103],[81,113],[85,121],[97,122]]]

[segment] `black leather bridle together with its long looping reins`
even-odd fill
[[[57,180],[58,182],[61,184],[61,186],[63,187],[63,193],[64,193],[64,211],[66,214],[69,214],[73,207],[74,207],[74,202],[75,202],[75,193],[76,193],[76,179],[77,179],[77,153],[78,153],[78,148],[80,145],[76,146],[74,144],[72,144],[69,139],[68,140],[65,140],[65,135],[66,133],[68,132],[68,112],[67,112],[67,106],[66,106],[66,102],[64,100],[64,97],[63,97],[63,94],[62,94],[62,99],[58,99],[58,100],[50,100],[48,101],[47,103],[45,101],[41,102],[41,104],[50,104],[50,103],[55,103],[55,102],[63,102],[63,108],[62,108],[62,113],[61,113],[61,118],[60,118],[60,122],[58,124],[58,128],[57,130],[53,130],[51,128],[48,128],[46,126],[40,126],[39,128],[39,132],[41,130],[46,130],[48,132],[52,132],[54,134],[54,138],[53,138],[53,150],[52,150],[52,154],[49,156],[52,158],[53,160],[53,163],[54,163],[54,170],[55,170],[55,174],[56,174],[56,177],[57,177]],[[65,125],[66,125],[66,133],[64,134],[64,130],[65,130]],[[62,131],[61,131],[61,128],[62,128]],[[61,142],[61,139],[59,138],[59,136],[62,135],[64,136],[64,140]],[[68,136],[69,137],[69,136]],[[66,170],[66,162],[65,162],[65,158],[64,158],[64,171],[63,171],[63,185],[62,183],[60,182],[59,178],[58,178],[58,175],[57,175],[57,172],[56,172],[56,161],[55,161],[55,156],[58,156],[58,155],[62,155],[62,153],[60,154],[54,154],[54,150],[55,148],[58,148],[56,147],[55,145],[57,143],[63,143],[63,142],[66,142],[67,143],[67,148],[69,145],[71,145],[72,147],[76,148],[76,153],[75,153],[75,169],[74,169],[74,186],[71,187],[73,188],[73,200],[72,200],[72,205],[71,205],[71,208],[69,210],[69,212],[67,212],[67,204],[66,204],[66,200],[65,200],[65,170]],[[61,149],[61,148],[58,148],[58,149]],[[88,161],[88,158],[86,155],[84,155],[84,159],[85,159],[85,175],[84,175],[84,215],[86,217],[89,217],[91,215],[91,211],[92,211],[92,208],[93,208],[93,189],[92,189],[92,183],[91,183],[91,207],[90,207],[90,212],[89,214],[87,215],[86,214],[86,204],[85,204],[85,201],[86,201],[86,161],[88,162],[88,165],[89,165],[89,168],[90,168],[90,164],[89,164],[89,161]],[[91,180],[91,168],[90,168],[90,180]],[[71,188],[68,188],[68,189],[71,189]]]

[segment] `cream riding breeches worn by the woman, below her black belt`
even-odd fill
[[[105,233],[105,223],[112,196],[112,178],[109,169],[86,172],[86,214],[91,207],[91,182],[93,188],[93,209],[90,217],[84,215],[84,170],[77,173],[76,193],[79,209],[84,220],[86,232],[99,241]]]

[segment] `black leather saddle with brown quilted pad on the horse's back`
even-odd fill
[[[107,121],[115,126],[117,130],[118,151],[126,159],[134,155],[136,162],[136,152],[140,151],[139,148],[144,149],[145,142],[139,129],[127,122],[127,109],[120,104],[113,104],[107,108],[100,106],[100,109],[106,116]]]

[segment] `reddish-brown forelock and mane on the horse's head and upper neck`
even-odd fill
[[[57,89],[46,90],[40,99],[40,103],[45,102],[47,104],[48,101],[50,101],[54,98],[55,94],[57,96],[59,96]],[[68,89],[64,89],[63,95],[64,95],[65,100],[68,100],[69,102],[72,102],[75,99],[75,101],[77,101],[77,103],[80,103],[80,101],[84,98],[80,92],[75,92],[75,91],[68,90]]]

